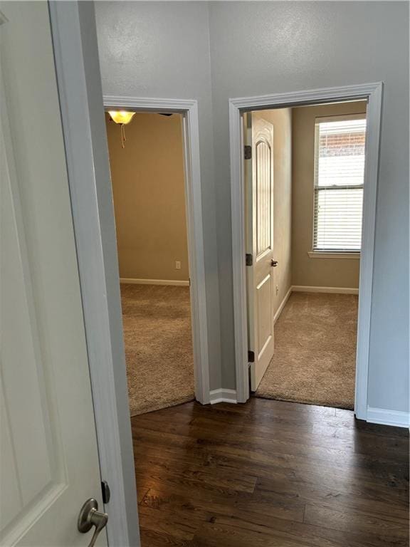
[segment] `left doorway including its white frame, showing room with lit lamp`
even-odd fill
[[[104,104],[130,415],[209,402],[196,101]]]

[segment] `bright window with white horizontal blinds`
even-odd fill
[[[364,115],[316,119],[313,251],[360,251],[365,137]]]

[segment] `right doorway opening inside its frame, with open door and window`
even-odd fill
[[[366,108],[243,115],[256,397],[354,408]]]

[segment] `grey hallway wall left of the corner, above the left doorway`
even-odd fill
[[[208,6],[205,2],[95,2],[102,91],[199,101],[211,390],[221,387],[219,279]]]

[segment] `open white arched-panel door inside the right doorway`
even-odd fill
[[[273,125],[246,114],[245,160],[248,343],[251,390],[255,391],[273,357]],[[250,148],[249,148],[250,147]]]

